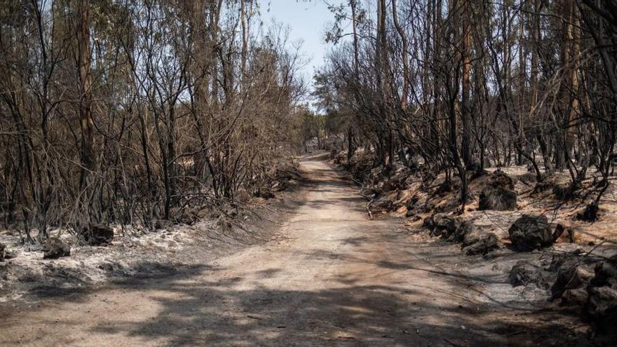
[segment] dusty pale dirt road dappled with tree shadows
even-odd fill
[[[358,188],[325,159],[302,158],[297,198],[269,241],[4,301],[0,345],[594,344],[588,325],[545,291],[510,285],[504,264],[528,254],[466,257],[403,219],[369,219]],[[198,256],[198,247],[183,252]]]

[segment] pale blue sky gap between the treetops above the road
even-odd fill
[[[340,2],[341,0],[328,1],[330,4]],[[325,28],[334,21],[334,15],[323,0],[262,0],[259,1],[259,6],[266,24],[274,19],[289,25],[291,41],[304,41],[301,51],[309,61],[301,72],[305,81],[311,83],[315,68],[323,64],[328,46],[324,42]]]

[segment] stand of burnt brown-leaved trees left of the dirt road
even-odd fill
[[[22,243],[195,222],[290,165],[301,58],[255,2],[4,5],[0,220]]]

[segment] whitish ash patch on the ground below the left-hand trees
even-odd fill
[[[0,242],[7,246],[10,258],[0,263],[0,301],[19,299],[25,292],[42,287],[70,289],[102,283],[118,275],[156,271],[156,265],[149,269],[142,264],[190,263],[195,260],[191,252],[182,251],[195,244],[210,249],[219,233],[214,221],[152,232],[114,226],[111,245],[93,247],[77,243],[67,231],[55,230],[50,235],[69,243],[71,255],[52,260],[43,259],[40,245],[23,245],[18,233],[1,231]]]

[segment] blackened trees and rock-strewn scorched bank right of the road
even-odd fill
[[[350,0],[332,8],[337,46],[315,93],[372,218],[405,217],[494,266],[548,254],[515,282],[536,278],[530,266],[562,273],[548,287],[578,292],[546,297],[597,322],[617,303],[604,278],[617,252],[617,20],[600,2]]]

